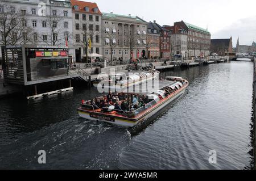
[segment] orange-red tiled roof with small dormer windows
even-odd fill
[[[101,15],[101,11],[100,9],[98,9],[98,5],[96,3],[92,3],[92,2],[85,2],[85,1],[77,1],[77,0],[71,0],[71,5],[72,5],[72,11],[78,11],[78,12],[85,12],[85,7],[89,7],[89,12],[90,14],[100,14]],[[74,6],[79,6],[78,10],[75,10]],[[94,12],[93,10],[97,8],[98,12]]]

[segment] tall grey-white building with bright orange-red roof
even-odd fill
[[[102,14],[96,3],[77,0],[71,0],[71,3],[76,61],[80,62],[85,60],[86,54],[102,54]],[[88,37],[90,37],[91,49],[86,48]]]

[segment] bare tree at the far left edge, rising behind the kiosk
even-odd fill
[[[0,44],[22,45],[31,41],[32,28],[26,22],[26,12],[15,10],[6,2],[0,3]],[[5,49],[7,60],[7,49]]]

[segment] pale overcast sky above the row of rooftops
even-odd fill
[[[140,16],[160,25],[184,20],[207,28],[213,39],[233,37],[233,45],[256,41],[255,0],[97,0],[102,12]]]

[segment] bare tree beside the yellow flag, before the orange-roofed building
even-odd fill
[[[93,43],[94,37],[99,35],[99,31],[94,31],[94,30],[88,30],[88,28],[86,27],[86,24],[84,24],[84,26],[80,27],[80,32],[82,34],[82,39],[80,39],[80,43],[82,43],[82,46],[85,48],[85,52],[86,52],[86,57],[85,57],[85,62],[88,63],[88,50],[89,50],[89,46],[90,43]],[[100,39],[100,37],[98,37],[98,39]]]

